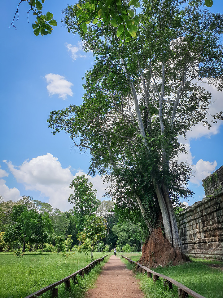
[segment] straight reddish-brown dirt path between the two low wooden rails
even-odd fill
[[[96,288],[87,291],[86,298],[143,298],[131,270],[118,256],[112,255],[99,275]]]

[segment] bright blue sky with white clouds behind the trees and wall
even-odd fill
[[[69,185],[77,174],[88,172],[90,155],[72,149],[68,135],[53,136],[46,120],[52,110],[81,104],[85,70],[93,65],[90,53],[83,53],[78,35],[68,34],[61,26],[61,11],[66,2],[46,0],[58,22],[51,35],[33,34],[28,6],[22,3],[16,30],[10,27],[19,1],[3,1],[0,18],[1,38],[1,110],[0,110],[0,194],[4,200],[17,201],[22,195],[49,202],[54,208],[68,210]],[[73,2],[69,2],[73,4]],[[223,13],[222,1],[214,0],[211,11]],[[213,94],[213,112],[223,110],[222,94]],[[223,165],[223,125],[211,130],[195,127],[187,136],[186,159],[194,165],[190,188],[195,192],[189,205],[204,196],[201,179]],[[185,156],[180,156],[185,160]],[[99,176],[88,177],[104,194]]]

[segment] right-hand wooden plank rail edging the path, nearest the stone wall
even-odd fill
[[[173,279],[173,278],[170,278],[170,277],[168,277],[168,276],[166,276],[166,275],[163,275],[163,274],[161,274],[161,273],[157,273],[157,272],[155,272],[155,271],[153,271],[153,270],[151,270],[151,269],[149,269],[149,268],[147,268],[147,267],[145,267],[145,266],[142,266],[142,265],[139,264],[138,262],[135,262],[135,261],[133,261],[133,260],[131,260],[131,259],[125,257],[124,255],[120,255],[120,256],[123,257],[123,258],[125,258],[125,260],[130,261],[130,263],[134,263],[134,264],[136,264],[137,267],[140,267],[140,268],[144,269],[145,271],[147,271],[147,272],[149,272],[149,273],[152,273],[152,274],[155,275],[155,276],[161,277],[161,278],[163,278],[164,280],[166,280],[166,281],[168,281],[168,282],[174,284],[175,286],[178,287],[179,290],[183,290],[184,292],[186,292],[187,294],[193,296],[194,298],[205,298],[204,296],[202,296],[202,295],[196,293],[195,291],[189,289],[188,287],[184,286],[184,285],[181,284],[180,282],[177,282],[177,281],[176,281],[175,279]],[[148,275],[148,274],[147,274],[147,275]],[[164,283],[165,283],[165,282],[164,282]]]

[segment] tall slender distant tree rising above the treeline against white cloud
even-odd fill
[[[74,178],[70,188],[74,189],[74,192],[69,196],[68,202],[74,204],[73,210],[77,219],[77,230],[81,232],[85,226],[85,216],[93,214],[100,201],[96,197],[97,190],[93,189],[93,184],[88,183],[88,178],[84,175]]]

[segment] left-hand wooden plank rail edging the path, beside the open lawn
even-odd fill
[[[36,298],[36,297],[42,295],[43,293],[46,293],[47,291],[50,291],[51,289],[53,289],[53,288],[59,286],[59,285],[62,284],[63,282],[66,282],[66,281],[70,280],[71,278],[75,278],[78,274],[81,275],[81,274],[82,274],[82,271],[84,271],[84,270],[86,270],[86,269],[87,269],[87,270],[89,269],[89,266],[90,266],[90,270],[91,270],[97,263],[103,261],[105,257],[107,257],[107,255],[104,255],[104,256],[103,256],[102,258],[100,258],[100,259],[94,260],[93,262],[91,262],[90,264],[88,264],[86,267],[81,268],[80,270],[78,270],[78,271],[72,273],[71,275],[69,275],[69,276],[67,276],[67,277],[65,277],[65,278],[63,278],[63,279],[61,279],[61,280],[59,280],[58,282],[54,282],[54,283],[52,283],[51,285],[49,285],[49,286],[47,286],[47,287],[45,287],[45,288],[42,288],[42,289],[36,291],[36,292],[33,293],[33,294],[30,294],[30,295],[26,296],[25,298]],[[91,268],[91,265],[93,265],[92,268]],[[89,271],[90,271],[90,270],[89,270]],[[86,271],[85,271],[85,272],[86,272]]]

